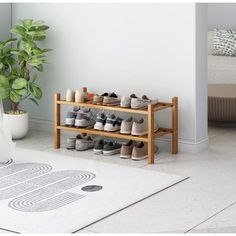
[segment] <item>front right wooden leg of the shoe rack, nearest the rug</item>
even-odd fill
[[[154,163],[154,109],[148,105],[148,164]]]

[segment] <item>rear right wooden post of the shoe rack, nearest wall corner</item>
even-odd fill
[[[178,97],[172,98],[172,154],[178,153]]]

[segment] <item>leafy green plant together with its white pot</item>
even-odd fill
[[[21,102],[30,99],[39,105],[42,97],[36,72],[42,72],[48,62],[45,53],[51,49],[39,47],[48,29],[43,21],[20,20],[11,29],[17,38],[0,42],[0,100],[11,102],[11,110],[3,114],[3,124],[13,139],[23,138],[28,132],[28,113],[20,108]]]

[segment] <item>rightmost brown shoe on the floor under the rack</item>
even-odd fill
[[[158,151],[158,147],[154,146],[154,153]],[[140,161],[144,160],[148,157],[148,145],[144,142],[138,142],[134,147],[132,151],[132,160]]]

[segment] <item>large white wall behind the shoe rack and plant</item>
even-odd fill
[[[33,119],[53,120],[53,94],[87,86],[96,93],[179,97],[181,143],[205,140],[197,122],[196,8],[194,3],[16,3],[19,18],[45,20],[51,27],[45,47],[51,64],[40,76],[44,96],[37,108],[25,104]],[[158,116],[160,126],[170,116]],[[201,116],[202,114],[200,114]],[[198,117],[199,118],[199,117]],[[205,119],[205,115],[202,119]],[[204,137],[203,137],[204,136]]]

